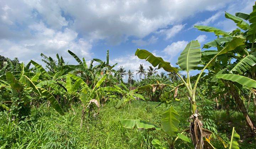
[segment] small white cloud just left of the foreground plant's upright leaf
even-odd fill
[[[185,40],[173,42],[170,45],[167,45],[163,51],[166,54],[170,55],[172,58],[178,55],[182,50],[184,50],[187,44],[188,42]]]

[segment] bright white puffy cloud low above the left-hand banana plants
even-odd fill
[[[21,61],[28,62],[28,59],[40,60],[40,53],[52,56],[55,54],[67,57],[68,60],[74,61],[67,50],[70,49],[79,56],[86,59],[91,58],[90,42],[83,38],[78,38],[78,33],[65,28],[64,31],[56,31],[47,28],[44,23],[36,23],[29,26],[33,32],[33,38],[21,40],[20,42],[13,42],[11,40],[0,40],[0,53],[1,55],[10,57],[18,57]]]

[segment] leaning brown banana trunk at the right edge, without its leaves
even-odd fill
[[[245,108],[244,101],[240,98],[240,96],[238,95],[238,92],[234,88],[234,85],[231,83],[230,83],[230,88],[231,88],[231,94],[233,95],[236,103],[238,104],[242,114],[244,115],[244,117],[246,119],[247,126],[250,128],[250,131],[252,133],[256,133],[256,128],[255,128],[254,124],[252,123],[251,118]]]

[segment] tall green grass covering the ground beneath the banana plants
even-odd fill
[[[81,129],[80,105],[74,105],[64,116],[60,116],[51,107],[43,104],[39,108],[33,108],[31,118],[20,121],[17,125],[6,121],[6,115],[2,113],[0,145],[5,144],[6,148],[152,148],[151,141],[159,139],[168,148],[167,136],[162,131],[126,129],[122,128],[118,121],[140,119],[161,126],[161,115],[166,109],[164,104],[156,107],[158,103],[133,101],[121,109],[116,109],[115,104],[116,101],[105,104],[95,118],[85,119]],[[189,106],[182,101],[173,105],[181,115],[181,132],[188,127]],[[240,136],[244,134],[246,127],[242,115],[238,112],[225,117],[224,111],[214,110],[212,119],[218,126],[220,136],[228,143],[231,127],[235,126]],[[176,143],[176,148],[188,148],[180,139]],[[255,143],[255,138],[244,140],[240,143],[240,148],[253,148]],[[213,141],[213,144],[217,148],[223,148],[218,141]]]

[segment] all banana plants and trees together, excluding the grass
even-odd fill
[[[214,33],[217,38],[204,44],[204,50],[197,40],[188,43],[178,57],[179,67],[173,67],[147,50],[137,49],[135,56],[152,65],[147,71],[142,64],[139,66],[139,81],[133,79],[134,72],[128,70],[126,73],[122,66],[115,70],[117,64],[110,65],[108,50],[106,61],[92,59],[90,63],[68,50],[77,65],[69,65],[58,54],[56,60],[41,54],[45,67],[33,60],[25,65],[17,58],[10,60],[1,56],[0,110],[6,114],[6,127],[11,128],[10,123],[27,121],[33,107],[45,104],[60,115],[75,111],[74,105],[80,105],[82,128],[84,120],[96,118],[108,101],[114,102],[115,110],[118,110],[132,100],[141,99],[159,102],[158,106],[165,104],[166,109],[159,119],[161,126],[134,118],[124,118],[119,122],[125,128],[136,127],[166,134],[162,140],[154,139],[154,136],[142,137],[145,141],[151,140],[155,148],[165,148],[163,144],[174,148],[175,142],[181,140],[191,148],[215,148],[214,139],[225,148],[239,148],[240,136],[234,127],[230,142],[226,143],[219,136],[213,114],[215,110],[225,110],[227,115],[230,111],[239,111],[249,130],[247,137],[256,135],[255,121],[249,114],[253,111],[256,115],[256,5],[250,14],[238,12],[234,16],[225,12],[225,17],[234,21],[238,28],[225,32],[214,27],[194,26],[200,31]],[[160,68],[168,72],[167,76],[157,74]],[[190,76],[192,70],[199,73]],[[127,83],[122,79],[125,75],[128,75]],[[252,101],[253,108],[249,106]],[[174,106],[177,103],[188,111],[187,114],[178,114]],[[150,107],[145,110],[153,111]],[[180,123],[181,116],[187,123]],[[186,129],[180,129],[180,125]],[[48,147],[66,144],[73,147],[76,138],[71,136],[74,134],[60,132],[58,139],[65,143],[49,144]],[[0,143],[7,145],[1,136]]]

